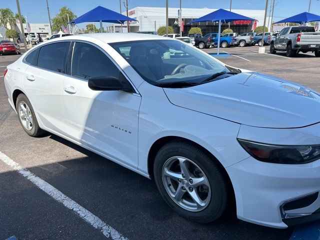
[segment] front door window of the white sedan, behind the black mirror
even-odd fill
[[[127,52],[127,48],[122,48]],[[84,43],[75,42],[71,62],[71,75],[88,79],[97,76],[119,77],[119,69],[97,47]]]

